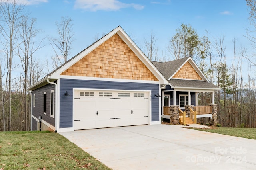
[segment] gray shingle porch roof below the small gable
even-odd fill
[[[192,88],[219,88],[212,83],[198,80],[182,80],[182,79],[171,79],[168,82],[174,87],[192,87]]]

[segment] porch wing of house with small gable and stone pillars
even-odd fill
[[[217,124],[214,91],[220,88],[210,83],[191,57],[152,63],[169,82],[162,89],[163,118],[170,119],[173,124],[190,124],[196,123],[197,118],[210,117],[211,124]],[[198,94],[202,92],[211,94],[211,103],[208,106],[198,106]],[[181,122],[183,114],[186,121]]]

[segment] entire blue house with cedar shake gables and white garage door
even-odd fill
[[[191,58],[151,62],[119,26],[28,88],[31,129],[160,124],[164,115],[180,119],[172,106],[196,106],[197,92],[216,88]]]

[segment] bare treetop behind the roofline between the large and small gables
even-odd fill
[[[146,45],[146,51],[147,51],[147,57],[148,57],[148,59],[150,59],[150,61],[158,60],[158,56],[157,56],[158,47],[156,47],[156,40],[157,40],[156,34],[153,31],[151,31],[149,41],[147,41],[144,38],[144,43]]]

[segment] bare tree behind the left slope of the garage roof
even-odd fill
[[[67,61],[74,33],[72,32],[73,20],[69,17],[61,17],[60,23],[56,21],[58,38],[50,38],[50,44],[60,64]]]

